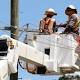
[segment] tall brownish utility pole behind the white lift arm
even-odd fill
[[[18,0],[11,0],[11,37],[18,39]],[[10,80],[18,80],[18,72],[10,75]]]

